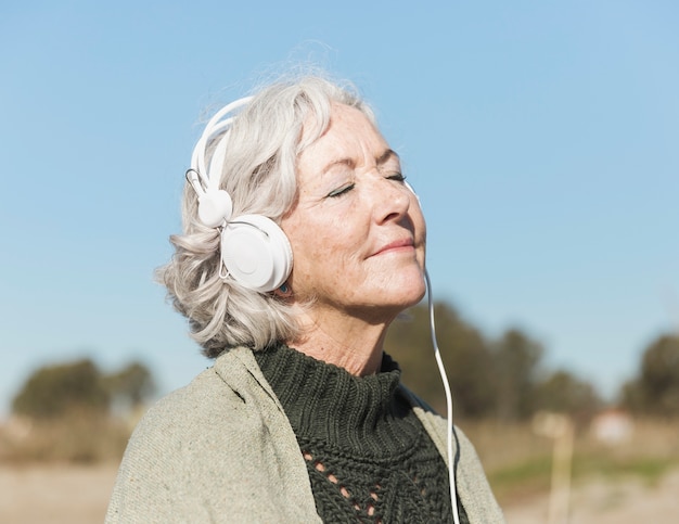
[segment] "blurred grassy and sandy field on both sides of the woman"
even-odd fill
[[[5,425],[0,434],[0,522],[102,522],[117,468],[111,453],[119,453],[127,427],[102,424],[98,421],[88,433],[85,422],[78,426],[72,421],[76,434],[71,445],[67,429],[57,424],[51,430]],[[462,429],[477,447],[508,522],[546,523],[552,440],[530,424],[462,423]],[[616,445],[580,429],[574,450],[571,523],[676,522],[679,423],[636,422],[633,433]]]

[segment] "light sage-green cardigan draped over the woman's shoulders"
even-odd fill
[[[446,457],[446,421],[412,398]],[[504,522],[476,452],[456,429],[457,487],[471,524]],[[299,446],[247,348],[144,416],[123,458],[106,523],[321,522]]]

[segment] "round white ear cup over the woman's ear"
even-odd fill
[[[221,232],[221,260],[244,287],[268,293],[292,271],[293,252],[283,230],[262,215],[242,215]]]

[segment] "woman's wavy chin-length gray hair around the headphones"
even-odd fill
[[[332,103],[356,107],[374,122],[355,89],[319,76],[277,81],[255,93],[233,120],[219,181],[233,200],[233,216],[258,214],[280,223],[297,196],[297,158],[328,129]],[[175,254],[156,278],[175,309],[189,319],[204,355],[215,358],[239,345],[261,349],[298,334],[285,301],[220,278],[220,233],[200,220],[189,183],[182,225],[183,233],[170,237]]]

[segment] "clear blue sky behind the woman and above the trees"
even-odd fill
[[[0,414],[47,363],[208,365],[152,272],[201,115],[300,61],[375,106],[436,298],[608,393],[677,330],[675,1],[230,3],[0,8]]]

